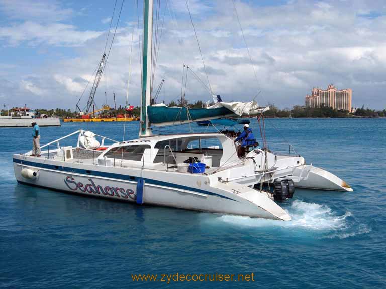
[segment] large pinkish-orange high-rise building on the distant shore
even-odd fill
[[[326,90],[313,88],[311,95],[306,95],[307,107],[332,107],[336,110],[351,111],[352,89],[337,90],[336,87],[330,84]]]

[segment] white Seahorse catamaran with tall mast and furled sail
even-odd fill
[[[42,146],[40,157],[31,151],[15,154],[19,183],[137,204],[284,221],[291,216],[275,197],[288,192],[285,184],[352,191],[337,176],[307,165],[300,155],[272,152],[265,141],[262,149],[250,146],[239,156],[228,133],[153,135],[154,127],[176,123],[260,118],[269,107],[260,108],[255,101],[218,102],[202,109],[151,105],[152,22],[153,3],[145,0],[139,137],[117,141],[75,131]],[[264,187],[272,184],[281,189],[275,185],[272,192]]]

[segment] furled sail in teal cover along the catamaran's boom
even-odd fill
[[[218,102],[207,108],[168,107],[165,104],[147,107],[149,122],[153,126],[183,124],[200,120],[228,117],[245,117],[269,110],[259,108],[257,102]]]

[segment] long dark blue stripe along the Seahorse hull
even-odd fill
[[[76,173],[76,174],[83,174],[83,175],[89,175],[89,176],[105,177],[105,178],[111,178],[111,179],[118,179],[118,180],[125,180],[125,181],[136,181],[136,182],[138,182],[138,180],[140,179],[140,177],[135,177],[135,176],[128,176],[128,175],[122,175],[122,174],[117,174],[117,173],[107,173],[107,172],[100,172],[100,171],[93,171],[93,170],[76,169],[76,168],[64,167],[64,166],[55,166],[55,165],[42,164],[42,163],[36,163],[36,162],[31,162],[31,161],[22,161],[20,159],[15,159],[15,158],[14,158],[14,163],[18,163],[18,164],[22,164],[22,165],[26,165],[26,166],[34,166],[34,167],[38,167],[38,168],[56,170],[58,172],[69,173],[69,174]],[[177,185],[177,184],[173,184],[173,183],[168,183],[168,182],[163,182],[163,181],[158,181],[158,180],[153,180],[153,179],[148,179],[148,178],[143,178],[143,180],[145,181],[145,183],[152,184],[152,185],[171,187],[171,188],[181,189],[181,190],[186,190],[186,191],[193,191],[193,192],[197,192],[197,193],[201,193],[201,194],[218,196],[220,198],[236,201],[236,200],[228,198],[226,196],[219,195],[219,194],[212,193],[212,192],[205,191],[205,190],[201,190],[201,189],[190,188],[187,186]]]

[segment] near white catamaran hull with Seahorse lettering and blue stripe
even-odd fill
[[[28,185],[126,202],[137,202],[137,183],[143,179],[144,204],[291,220],[267,193],[237,183],[210,184],[207,176],[177,172],[84,164],[81,168],[78,164],[62,167],[55,163],[59,162],[14,155],[16,179]],[[184,185],[192,182],[194,187]]]

